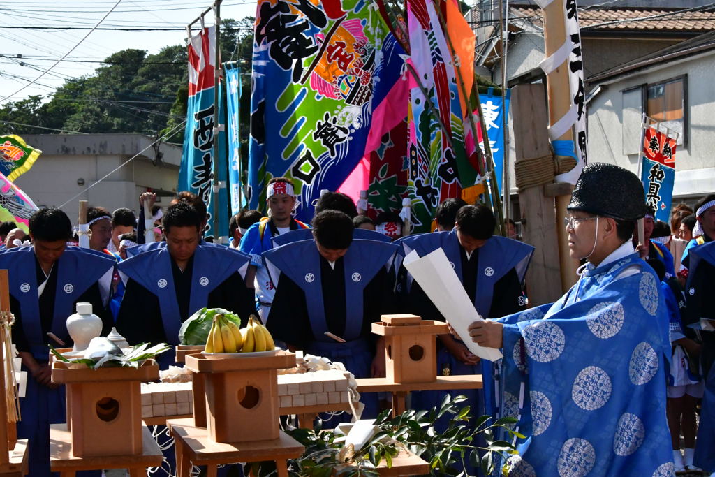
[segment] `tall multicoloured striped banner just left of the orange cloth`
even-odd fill
[[[408,194],[413,232],[429,232],[435,207],[474,185],[477,170],[464,146],[458,79],[438,12],[430,0],[409,0],[407,6],[416,72],[410,75]]]

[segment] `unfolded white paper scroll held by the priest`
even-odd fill
[[[490,361],[502,357],[498,349],[483,348],[470,339],[467,328],[483,318],[475,310],[444,250],[438,248],[421,258],[413,250],[405,257],[404,264],[472,353]]]

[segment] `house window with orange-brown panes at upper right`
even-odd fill
[[[684,144],[686,116],[686,77],[669,79],[646,87],[646,114],[676,131],[678,142]]]

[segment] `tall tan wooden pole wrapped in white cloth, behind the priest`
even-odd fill
[[[543,36],[546,57],[555,53],[566,41],[566,0],[553,0],[543,9]],[[571,109],[571,89],[568,86],[568,61],[563,62],[553,72],[546,75],[548,95],[548,119],[553,126]],[[557,140],[573,141],[573,131],[569,128]],[[558,258],[561,264],[561,291],[566,292],[576,282],[578,260],[568,254],[568,234],[563,227],[566,207],[571,199],[571,185],[558,184],[547,187],[547,195],[556,197],[556,231],[558,232]]]

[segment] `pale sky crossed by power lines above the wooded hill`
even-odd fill
[[[51,94],[65,79],[92,74],[101,66],[99,62],[117,51],[136,48],[153,54],[164,46],[182,44],[187,24],[211,5],[210,0],[121,0],[119,4],[117,0],[0,1],[0,106],[32,94]],[[239,20],[255,16],[255,9],[255,0],[224,0],[220,16]],[[82,40],[105,15],[99,28],[177,31],[97,29]],[[214,24],[212,12],[204,18],[207,26]],[[74,29],[78,27],[86,29]],[[194,25],[194,34],[198,27],[198,23]],[[36,79],[69,51],[63,61]],[[227,56],[227,52],[223,54]]]

